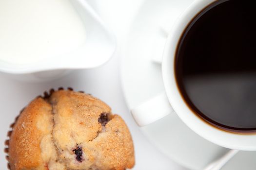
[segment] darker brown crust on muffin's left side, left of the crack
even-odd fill
[[[41,98],[32,101],[21,113],[9,140],[11,170],[33,169],[42,165],[39,145],[43,133],[37,128],[37,120],[50,113],[51,106]]]

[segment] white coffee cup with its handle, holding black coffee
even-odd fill
[[[190,21],[206,6],[216,0],[195,0],[177,19],[168,33],[163,60],[162,76],[165,92],[131,110],[139,126],[145,126],[164,116],[176,112],[180,119],[199,136],[226,148],[256,151],[256,134],[236,134],[220,130],[195,115],[179,93],[174,59],[179,38]]]

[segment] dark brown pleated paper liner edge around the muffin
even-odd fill
[[[39,95],[37,98],[48,99],[48,98],[51,97],[51,95],[52,95],[55,91],[59,91],[59,90],[64,90],[64,88],[63,88],[63,87],[59,87],[58,90],[55,90],[54,88],[51,88],[49,91],[45,91],[45,92],[43,93],[43,96]],[[73,91],[73,88],[67,87],[67,90]],[[78,92],[79,92],[79,93],[84,93],[84,91],[78,91]],[[26,107],[24,107],[24,108],[20,111],[20,114],[23,112],[23,110],[24,110],[25,108],[26,108]],[[12,135],[12,132],[13,132],[13,128],[14,128],[14,126],[15,126],[15,123],[16,123],[17,120],[19,119],[20,114],[15,118],[14,123],[12,123],[12,124],[10,125],[11,130],[8,131],[8,133],[7,133],[8,139],[5,140],[5,142],[4,142],[4,144],[5,144],[4,152],[7,154],[7,155],[5,156],[5,158],[6,158],[6,160],[8,161],[8,163],[7,163],[7,168],[8,168],[9,170],[11,170],[11,166],[10,166],[10,163],[9,163],[9,155],[8,155],[8,154],[9,154],[9,141],[10,141],[10,136]]]

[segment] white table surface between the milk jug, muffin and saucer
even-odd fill
[[[122,94],[120,84],[120,59],[123,55],[125,36],[129,24],[142,0],[88,0],[100,16],[117,35],[118,49],[105,65],[87,70],[76,70],[65,77],[50,82],[20,82],[0,74],[0,150],[9,125],[30,100],[52,87],[71,86],[74,90],[84,90],[108,103],[114,113],[126,121],[135,145],[136,166],[134,170],[185,170],[169,160],[147,140],[134,122]],[[8,121],[7,121],[8,120]],[[0,170],[7,170],[5,154],[0,152]]]

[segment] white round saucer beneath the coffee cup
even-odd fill
[[[177,0],[146,0],[132,22],[122,60],[122,86],[130,109],[164,91],[161,66],[152,58],[161,55],[156,39],[162,23],[177,17],[175,5]],[[141,131],[166,156],[192,170],[202,170],[228,151],[195,134],[175,114]],[[222,170],[256,170],[255,158],[256,152],[239,152]]]

